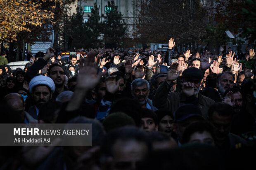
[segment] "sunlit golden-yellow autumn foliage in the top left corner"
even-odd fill
[[[59,0],[0,0],[0,38],[17,40],[19,33],[31,32],[47,21],[55,23],[55,4]],[[52,4],[44,9],[45,3]]]

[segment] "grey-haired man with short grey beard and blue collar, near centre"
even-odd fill
[[[150,92],[149,82],[145,79],[135,79],[131,84],[131,93],[134,99],[139,100],[142,108],[147,108],[156,111],[152,100],[148,99]]]

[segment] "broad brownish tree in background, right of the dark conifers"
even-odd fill
[[[145,42],[203,42],[206,11],[200,0],[140,0],[137,37]]]

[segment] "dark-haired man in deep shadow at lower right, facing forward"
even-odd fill
[[[209,108],[209,121],[215,130],[216,146],[223,151],[246,145],[242,137],[230,133],[233,114],[232,107],[225,103],[218,102]]]

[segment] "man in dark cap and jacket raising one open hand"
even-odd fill
[[[177,79],[182,71],[176,74],[176,66],[173,66],[167,73],[166,80],[161,83],[154,95],[153,105],[157,108],[165,108],[172,113],[178,109],[179,106],[192,103],[198,105],[204,119],[208,116],[208,109],[214,103],[210,98],[205,97],[199,93],[201,81],[203,79],[203,72],[198,68],[187,68],[183,71],[182,91],[171,92],[173,80]]]

